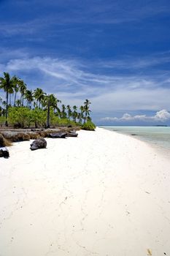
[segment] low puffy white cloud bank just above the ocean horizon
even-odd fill
[[[129,113],[124,113],[122,117],[105,117],[101,121],[168,121],[170,120],[170,113],[167,110],[160,110],[154,116],[136,115],[131,116]]]

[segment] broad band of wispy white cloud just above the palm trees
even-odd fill
[[[54,59],[50,57],[24,57],[11,59],[0,65],[0,71],[23,78],[28,87],[42,87],[54,93],[63,102],[80,105],[90,99],[93,115],[111,116],[116,111],[158,111],[169,109],[170,73],[152,75],[106,75],[96,72],[97,63],[76,59]],[[158,117],[158,115],[157,115]],[[115,117],[113,117],[115,118]],[[147,120],[146,116],[123,116],[135,120]],[[107,120],[107,119],[106,119]]]

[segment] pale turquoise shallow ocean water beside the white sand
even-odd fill
[[[170,127],[103,127],[170,150]]]

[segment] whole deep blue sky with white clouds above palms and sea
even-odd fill
[[[0,73],[93,121],[170,124],[170,1],[0,0]]]

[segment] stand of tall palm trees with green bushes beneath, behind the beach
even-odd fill
[[[47,94],[41,88],[34,91],[16,75],[11,78],[4,72],[0,77],[0,89],[5,100],[0,97],[0,125],[16,128],[82,126],[82,129],[95,129],[90,118],[90,101],[84,105],[61,105],[55,94]]]

